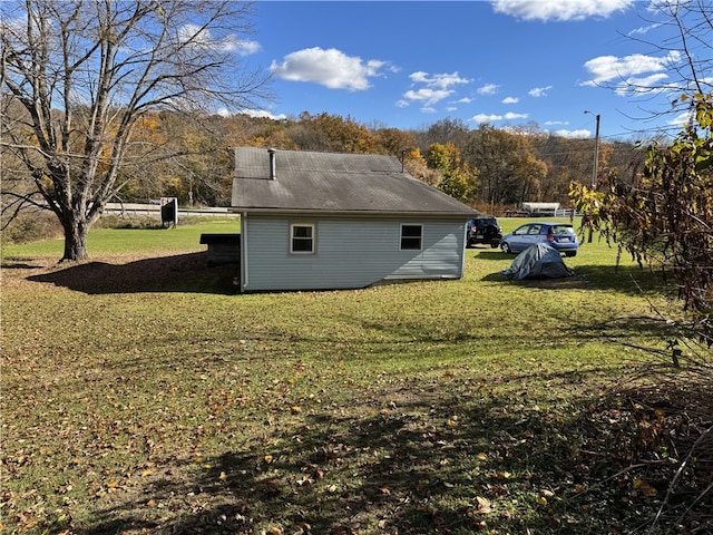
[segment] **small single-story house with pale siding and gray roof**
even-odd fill
[[[391,156],[235,149],[240,291],[459,279],[476,211]]]

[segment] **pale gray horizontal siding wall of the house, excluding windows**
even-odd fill
[[[465,255],[462,220],[323,217],[299,221],[250,214],[244,231],[243,291],[364,288],[384,280],[459,279]],[[292,254],[294,225],[319,225],[314,254]],[[421,249],[402,250],[402,225],[421,226]],[[316,236],[315,236],[316,239]]]

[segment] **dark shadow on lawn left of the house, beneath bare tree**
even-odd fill
[[[30,275],[87,294],[137,292],[236,293],[236,265],[208,268],[207,252],[141,259],[124,264],[88,262]]]

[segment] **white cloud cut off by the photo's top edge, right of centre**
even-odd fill
[[[634,0],[491,0],[497,13],[522,20],[568,21],[609,17],[625,11]]]

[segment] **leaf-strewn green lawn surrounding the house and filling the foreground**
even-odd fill
[[[216,224],[3,250],[0,533],[710,533],[657,274],[237,295]]]

